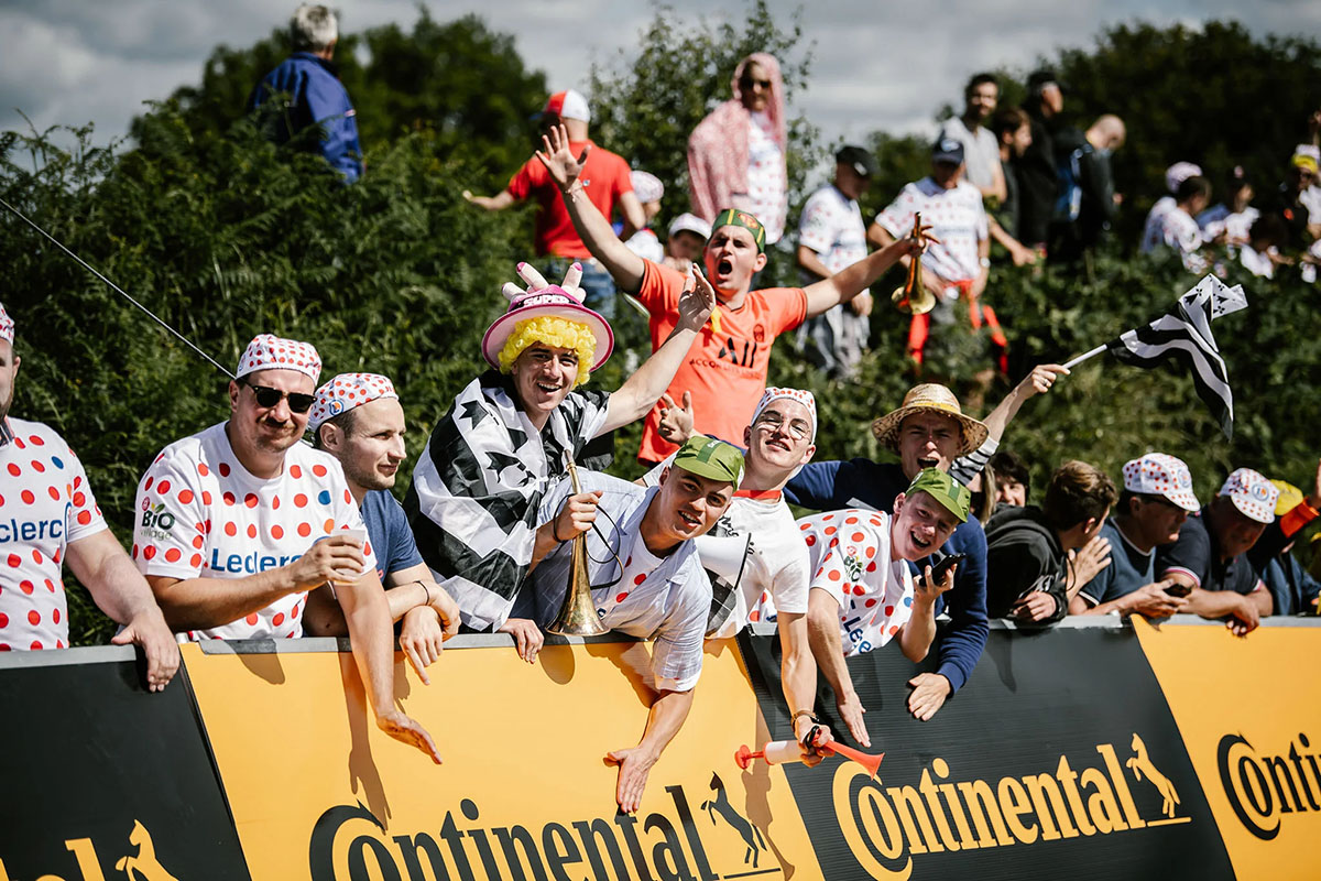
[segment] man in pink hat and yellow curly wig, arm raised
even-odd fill
[[[528,289],[505,285],[509,312],[482,339],[491,370],[469,383],[436,425],[404,511],[423,560],[458,601],[464,623],[513,634],[519,656],[531,663],[542,633],[510,612],[532,559],[542,497],[564,477],[565,456],[579,461],[589,441],[653,408],[711,314],[715,293],[705,279],[691,277],[679,320],[655,354],[614,392],[579,391],[614,346],[610,325],[583,305],[581,267],[571,267],[560,285],[526,263],[518,271]]]

